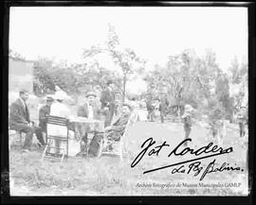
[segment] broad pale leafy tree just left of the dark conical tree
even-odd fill
[[[192,104],[197,107],[207,91],[197,71],[201,63],[190,49],[181,54],[170,56],[166,66],[155,65],[155,69],[146,77],[149,85],[154,84],[158,94],[167,90],[173,105]]]

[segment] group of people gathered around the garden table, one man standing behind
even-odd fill
[[[72,114],[64,104],[64,94],[56,92],[54,95],[46,97],[46,105],[39,110],[39,124],[30,120],[29,109],[27,107],[28,93],[21,90],[18,99],[10,105],[9,129],[26,133],[23,150],[29,152],[35,134],[40,146],[46,146],[44,133],[46,133],[47,116],[60,116],[69,119],[71,115],[77,115],[91,120],[102,120],[104,116],[104,132],[109,139],[119,141],[120,136],[128,123],[133,111],[133,106],[129,103],[117,103],[114,94],[114,82],[109,80],[107,87],[101,92],[101,104],[98,103],[96,92],[90,91],[85,94],[84,103],[78,108],[76,114]],[[74,129],[72,124],[69,127]],[[82,142],[87,143],[86,135],[82,136]],[[57,142],[56,142],[57,143]]]

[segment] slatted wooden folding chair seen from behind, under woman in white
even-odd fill
[[[56,129],[60,129],[60,132],[56,132]],[[60,146],[53,145],[54,142],[59,141]],[[64,147],[61,144],[64,143]],[[57,149],[63,151],[62,153],[52,153],[51,149]],[[64,157],[68,158],[68,119],[59,116],[48,116],[46,123],[46,148],[43,153],[42,162],[44,158],[53,157],[61,158],[63,162]]]

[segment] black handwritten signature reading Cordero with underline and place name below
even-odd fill
[[[213,143],[210,143],[209,145],[205,145],[202,147],[199,147],[197,149],[193,149],[191,147],[184,147],[184,143],[187,141],[192,141],[191,138],[185,139],[183,140],[179,145],[177,145],[176,147],[174,147],[174,149],[170,152],[170,154],[168,155],[168,157],[171,156],[184,156],[187,154],[191,154],[192,156],[194,156],[191,160],[188,161],[184,161],[184,162],[176,162],[173,164],[169,164],[169,165],[165,165],[165,166],[161,166],[161,167],[157,167],[154,169],[150,169],[147,171],[144,171],[143,174],[147,174],[150,172],[155,172],[157,170],[160,169],[165,169],[165,168],[170,168],[170,167],[174,167],[171,171],[172,174],[175,173],[187,173],[190,174],[191,172],[194,172],[194,177],[199,175],[202,172],[201,178],[200,180],[204,179],[206,177],[207,174],[210,173],[214,173],[214,172],[223,172],[223,171],[235,171],[235,170],[241,170],[244,171],[243,169],[241,169],[240,167],[233,167],[233,166],[229,166],[229,163],[222,163],[222,165],[220,167],[216,167],[216,160],[214,159],[213,161],[211,161],[208,166],[206,167],[206,169],[203,171],[204,166],[202,165],[202,163],[200,162],[203,159],[206,158],[212,158],[218,155],[224,155],[224,154],[229,154],[230,152],[233,151],[232,147],[226,148],[224,149],[221,146],[218,145],[213,145]],[[153,140],[153,138],[148,138],[142,145],[141,148],[143,148],[137,155],[137,157],[135,158],[135,160],[131,163],[131,167],[135,167],[137,165],[138,162],[140,162],[144,155],[147,154],[148,156],[152,156],[152,155],[156,155],[158,156],[159,152],[167,146],[170,146],[165,142],[162,143],[162,145],[155,145],[155,147],[153,147],[153,145],[155,145],[155,140]],[[206,154],[202,157],[197,157],[200,155]],[[184,164],[189,163],[189,165],[186,167]],[[178,167],[176,167],[178,166]]]

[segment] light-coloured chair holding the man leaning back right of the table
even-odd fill
[[[137,122],[138,115],[136,113],[132,113],[130,116],[130,119],[124,129],[123,134],[120,136],[119,141],[110,141],[107,139],[107,135],[104,134],[103,141],[101,143],[101,150],[99,157],[102,155],[108,155],[108,156],[119,156],[120,160],[123,159],[123,155],[127,153],[127,148],[126,148],[126,143],[125,141],[127,140],[126,138],[128,137],[128,128],[131,128],[132,126],[135,125]],[[112,150],[107,149],[109,145],[113,146]]]

